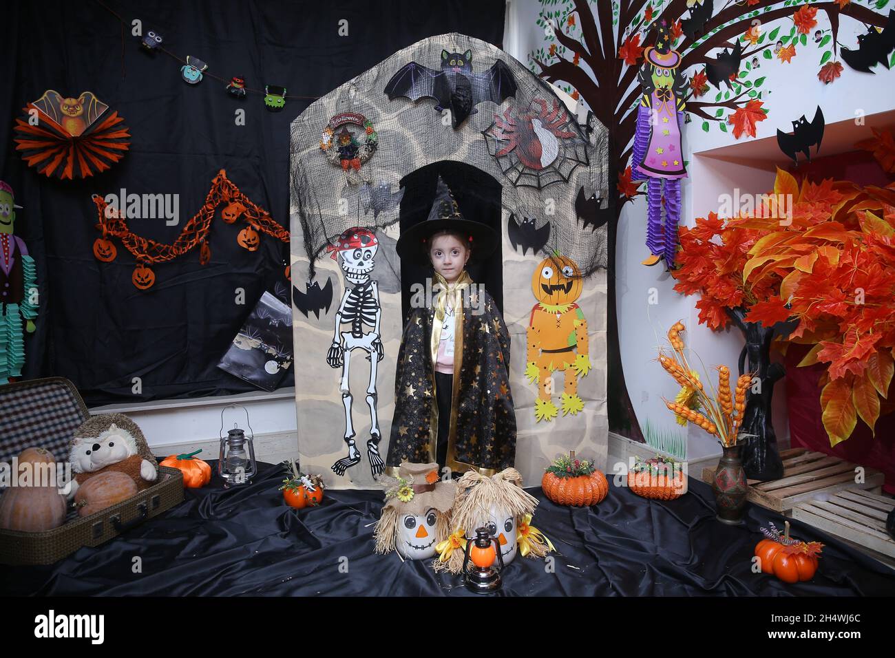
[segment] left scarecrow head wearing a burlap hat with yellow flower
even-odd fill
[[[376,552],[398,551],[407,560],[435,555],[450,534],[456,484],[443,482],[439,465],[402,462],[396,478],[385,478],[388,491],[373,535]]]

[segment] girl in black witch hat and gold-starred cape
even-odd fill
[[[402,461],[483,474],[515,461],[507,325],[465,270],[471,258],[487,258],[497,239],[489,226],[463,217],[440,176],[429,218],[398,239],[402,260],[431,263],[437,295],[409,313],[398,349],[389,474]]]

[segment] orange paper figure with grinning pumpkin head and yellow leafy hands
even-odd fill
[[[587,320],[575,300],[581,295],[582,279],[575,261],[555,254],[545,258],[534,270],[534,304],[528,323],[528,351],[525,376],[538,383],[534,416],[550,422],[558,409],[550,399],[552,372],[565,372],[562,393],[563,415],[575,415],[584,409],[578,396],[578,377],[591,371],[588,355]]]

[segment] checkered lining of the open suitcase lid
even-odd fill
[[[68,456],[68,442],[87,416],[71,389],[58,382],[18,390],[0,387],[0,462],[12,463],[32,446]]]

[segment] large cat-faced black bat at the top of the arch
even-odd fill
[[[411,62],[402,66],[388,81],[385,92],[389,100],[405,97],[413,101],[435,98],[435,109],[450,110],[451,122],[456,129],[466,118],[478,112],[479,103],[490,100],[500,105],[516,95],[516,80],[509,66],[498,60],[488,71],[473,71],[473,51],[448,53],[441,51],[441,70]]]

